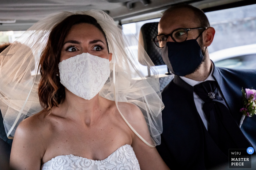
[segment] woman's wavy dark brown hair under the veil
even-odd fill
[[[106,34],[101,25],[97,23],[94,17],[89,15],[68,16],[52,29],[39,61],[41,80],[38,85],[38,96],[41,106],[44,111],[46,110],[46,114],[50,113],[51,108],[58,106],[65,98],[65,88],[60,83],[60,77],[56,76],[56,74],[59,74],[60,53],[64,39],[71,27],[80,23],[92,24],[98,28],[103,33],[108,47]]]

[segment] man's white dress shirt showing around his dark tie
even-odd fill
[[[212,70],[211,70],[210,75],[207,77],[206,80],[204,80],[202,82],[205,82],[205,81],[208,81],[208,80],[216,81],[212,76],[213,70],[214,70],[214,65],[212,64]],[[191,86],[195,86],[196,84],[202,83],[202,82],[198,82],[196,80],[192,80],[192,79],[185,78],[185,77],[182,77],[182,76],[180,76],[180,78]],[[219,96],[222,97],[219,88],[218,88],[218,93],[219,93]],[[195,92],[194,92],[194,101],[195,101],[195,104],[196,104],[197,112],[199,113],[199,115],[200,115],[200,117],[201,117],[201,119],[204,123],[204,126],[208,130],[209,122],[207,121],[206,115],[204,114],[204,111],[203,111],[204,101]]]

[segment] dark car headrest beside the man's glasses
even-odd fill
[[[158,34],[158,22],[146,23],[140,28],[139,43],[147,52],[148,56],[155,66],[165,65],[161,56],[161,48],[158,48],[152,39]],[[138,54],[139,63],[143,64],[140,54]]]

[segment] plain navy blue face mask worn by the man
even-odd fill
[[[193,73],[204,58],[196,39],[186,40],[181,43],[167,42],[162,50],[163,61],[170,71],[178,76]],[[167,56],[170,62],[166,59]]]

